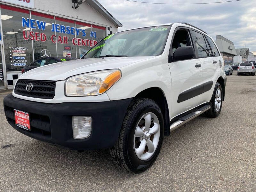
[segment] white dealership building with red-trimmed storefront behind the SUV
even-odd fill
[[[31,62],[80,58],[122,26],[96,0],[0,0],[0,15],[0,89],[13,89]]]

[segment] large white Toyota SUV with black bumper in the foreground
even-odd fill
[[[110,148],[142,172],[164,135],[196,116],[220,114],[226,75],[210,36],[186,23],[136,28],[102,39],[80,60],[32,69],[4,98],[9,124],[76,150]]]

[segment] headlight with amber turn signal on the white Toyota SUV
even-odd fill
[[[66,96],[92,96],[106,92],[121,78],[117,69],[73,76],[66,81]]]

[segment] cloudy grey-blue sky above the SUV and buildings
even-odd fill
[[[228,0],[138,0],[154,3],[208,3]],[[123,27],[118,31],[185,21],[206,31],[216,39],[222,35],[233,41],[236,48],[256,51],[256,0],[242,0],[218,4],[164,5],[129,2],[125,0],[98,0]]]

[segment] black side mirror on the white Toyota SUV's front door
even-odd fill
[[[173,61],[193,59],[195,51],[193,47],[178,47],[173,53]]]

